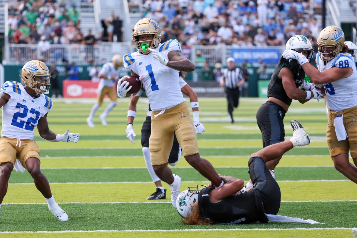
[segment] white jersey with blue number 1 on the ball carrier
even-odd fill
[[[171,39],[159,44],[156,50],[169,60],[169,52],[181,52],[181,46],[176,39]],[[123,58],[125,69],[131,69],[140,76],[151,110],[169,109],[186,101],[182,96],[177,70],[162,65],[152,54],[144,55],[140,51],[126,54]]]

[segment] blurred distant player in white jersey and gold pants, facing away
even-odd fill
[[[123,58],[120,55],[114,55],[112,62],[107,62],[100,70],[98,77],[100,82],[97,91],[97,102],[93,105],[89,117],[87,118],[87,124],[89,127],[94,127],[93,117],[98,108],[102,105],[105,95],[108,95],[111,102],[105,108],[104,112],[99,116],[102,125],[107,126],[107,115],[116,106],[116,92],[114,83],[119,79],[120,67],[123,65]]]

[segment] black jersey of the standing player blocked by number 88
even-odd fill
[[[302,68],[299,69],[296,60],[288,61],[281,57],[279,64],[275,67],[273,75],[271,76],[271,80],[268,86],[268,97],[277,98],[290,106],[292,99],[290,99],[286,94],[285,89],[283,87],[283,82],[278,77],[279,72],[283,67],[287,67],[291,70],[294,75],[295,86],[297,88],[300,87],[300,85],[304,82],[305,72]]]

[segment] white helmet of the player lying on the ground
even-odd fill
[[[192,206],[198,202],[198,193],[192,193],[190,188],[182,191],[176,198],[176,209],[181,217],[186,218],[192,211]]]

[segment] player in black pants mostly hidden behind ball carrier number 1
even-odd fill
[[[181,72],[180,72],[181,73]],[[192,90],[192,88],[183,80],[185,78],[185,73],[181,75],[180,78],[180,87],[183,94],[190,97],[192,113],[193,113],[193,123],[195,124],[195,129],[197,134],[202,134],[205,132],[205,127],[200,122],[199,112],[198,112],[198,99],[197,94]],[[136,116],[136,104],[139,100],[141,95],[141,91],[137,93],[135,96],[130,98],[129,103],[129,110],[128,110],[128,125],[126,128],[126,137],[133,143],[135,139],[135,132],[133,129],[133,122]],[[142,146],[142,153],[144,154],[145,164],[149,174],[154,181],[156,186],[156,191],[150,195],[150,197],[146,198],[147,200],[152,199],[165,199],[166,198],[166,189],[162,187],[161,180],[154,172],[152,168],[151,161],[150,161],[150,151],[149,151],[149,137],[151,134],[151,108],[149,105],[149,110],[147,110],[146,120],[144,121],[141,127],[141,146]],[[171,148],[170,156],[169,156],[169,164],[171,166],[175,166],[178,160],[181,157],[181,146],[177,141],[176,136],[174,136],[174,143]]]

